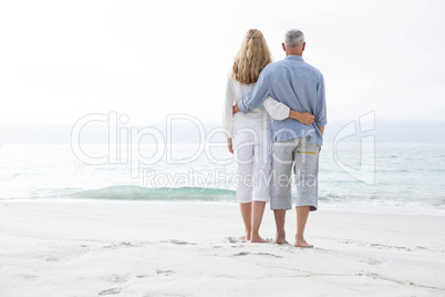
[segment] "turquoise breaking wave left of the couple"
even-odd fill
[[[70,194],[71,198],[125,201],[236,201],[235,191],[204,187],[157,187],[136,185],[108,186]]]

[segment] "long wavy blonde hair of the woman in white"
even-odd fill
[[[245,84],[255,83],[261,70],[270,62],[272,57],[265,37],[260,30],[250,29],[235,57],[231,78]]]

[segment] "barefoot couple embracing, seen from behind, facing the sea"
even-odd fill
[[[227,146],[237,163],[237,198],[246,239],[259,235],[270,199],[277,244],[287,243],[286,211],[292,208],[291,173],[297,184],[294,246],[312,247],[304,239],[309,212],[318,207],[319,153],[327,124],[324,80],[306,63],[304,35],[286,33],[286,59],[273,62],[261,31],[246,33],[226,86],[224,127]],[[235,105],[234,105],[235,104]]]

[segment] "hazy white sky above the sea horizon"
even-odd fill
[[[444,122],[444,1],[2,1],[0,129],[60,126],[92,113],[128,124],[167,114],[219,122],[245,32],[273,60],[283,34],[324,75],[328,121]]]

